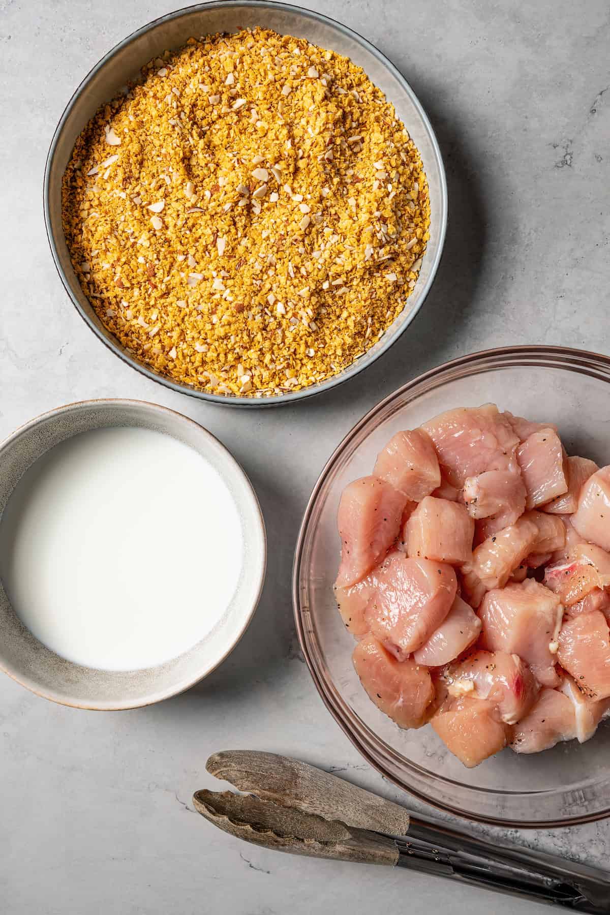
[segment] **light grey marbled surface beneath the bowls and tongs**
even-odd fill
[[[472,350],[564,343],[610,352],[610,22],[605,0],[308,0],[405,73],[448,172],[445,256],[420,317],[355,381],[274,411],[207,406],[147,382],[93,337],[48,253],[42,173],[76,84],[167,0],[0,0],[3,183],[0,436],[57,404],[129,396],[206,425],[251,476],[269,575],[246,637],[197,688],[152,708],[91,713],[0,678],[0,898],[5,915],[400,910],[540,913],[431,877],[265,852],[191,812],[220,748],[265,748],[398,796],[326,714],[299,656],[289,582],[307,496],[359,417],[412,375]],[[403,800],[408,801],[403,795]],[[421,805],[413,807],[421,809]],[[506,832],[488,830],[499,838]],[[607,862],[597,823],[509,837]]]

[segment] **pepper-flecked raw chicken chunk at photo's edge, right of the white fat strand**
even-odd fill
[[[567,619],[559,634],[557,658],[589,698],[610,696],[610,639],[599,610]]]

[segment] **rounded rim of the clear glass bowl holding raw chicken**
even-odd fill
[[[324,468],[322,468],[316,484],[312,493],[307,501],[305,507],[305,512],[303,515],[303,520],[299,528],[299,533],[296,539],[296,545],[294,547],[294,564],[293,564],[293,610],[294,610],[294,625],[296,628],[296,634],[299,640],[299,645],[303,656],[305,658],[305,663],[309,673],[311,674],[312,680],[316,685],[316,689],[320,694],[326,709],[330,712],[331,716],[337,722],[337,725],[341,728],[343,733],[348,737],[352,745],[358,750],[359,754],[366,759],[370,766],[373,769],[380,772],[380,775],[383,778],[391,781],[398,788],[401,788],[402,791],[406,791],[409,794],[412,794],[413,797],[417,798],[419,801],[423,801],[426,804],[429,804],[433,808],[443,813],[451,813],[454,816],[458,816],[461,819],[474,822],[474,823],[488,823],[496,826],[503,826],[505,828],[521,828],[521,829],[544,829],[544,828],[555,828],[562,826],[573,826],[581,825],[583,823],[594,823],[598,820],[603,820],[605,817],[610,815],[610,801],[605,805],[605,807],[599,811],[593,813],[583,813],[583,814],[574,814],[572,816],[566,816],[565,818],[559,820],[557,818],[550,818],[548,820],[513,820],[509,817],[494,817],[491,815],[486,815],[484,813],[473,813],[472,811],[465,811],[457,806],[452,806],[449,802],[442,802],[436,800],[435,798],[430,797],[428,794],[424,793],[418,788],[415,788],[413,785],[409,784],[407,780],[400,779],[384,765],[381,759],[377,759],[369,752],[368,745],[365,744],[363,739],[359,737],[359,734],[356,733],[352,727],[348,718],[344,716],[342,705],[344,705],[343,700],[340,695],[336,693],[334,684],[330,681],[326,681],[325,677],[319,672],[316,661],[309,651],[307,640],[305,638],[305,621],[304,614],[301,608],[301,566],[303,560],[303,552],[305,546],[305,538],[308,533],[309,523],[311,520],[312,513],[316,507],[316,502],[323,486],[326,483],[326,478],[330,474],[331,470],[335,467],[337,460],[341,457],[344,450],[351,443],[352,439],[355,436],[358,436],[361,429],[373,418],[375,414],[379,414],[385,406],[391,404],[392,401],[398,400],[404,393],[409,392],[413,388],[425,384],[425,382],[431,382],[432,380],[445,380],[448,381],[451,379],[451,376],[454,372],[465,369],[467,366],[476,366],[479,364],[481,366],[481,371],[492,371],[497,368],[509,368],[514,366],[527,366],[527,365],[536,365],[536,366],[548,366],[548,367],[558,367],[561,368],[562,365],[570,367],[573,371],[579,371],[583,374],[591,374],[594,377],[599,378],[599,371],[605,371],[606,381],[610,382],[610,357],[605,356],[603,353],[597,353],[591,350],[577,350],[570,347],[562,346],[547,346],[547,345],[519,345],[519,346],[508,346],[508,347],[497,347],[490,350],[479,350],[474,353],[469,353],[464,356],[459,356],[453,360],[446,361],[440,365],[435,366],[428,371],[424,371],[422,374],[415,376],[410,379],[408,382],[405,382],[401,387],[397,388],[392,393],[388,394],[386,397],[382,398],[378,404],[372,406],[367,413],[359,420],[358,423],[352,426],[348,431],[347,435],[344,436],[341,441],[338,443],[337,447],[334,449],[330,457],[327,459]],[[597,371],[594,371],[597,370]],[[337,701],[338,700],[338,701]],[[374,735],[376,737],[376,735]],[[392,751],[393,752],[393,751]],[[447,780],[451,782],[451,780]],[[486,791],[491,794],[502,794],[502,793],[520,793],[524,792],[512,792],[512,791],[497,791],[494,789],[480,789],[480,791]],[[534,793],[544,794],[544,791],[536,791]]]

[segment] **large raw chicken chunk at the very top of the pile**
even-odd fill
[[[458,489],[468,477],[506,468],[506,459],[519,444],[495,404],[448,410],[422,428],[433,440],[444,478]]]

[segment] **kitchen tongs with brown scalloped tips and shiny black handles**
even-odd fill
[[[239,791],[196,791],[198,813],[253,845],[294,855],[407,867],[574,911],[610,913],[610,874],[498,846],[433,821],[297,759],[254,750],[206,764]]]

